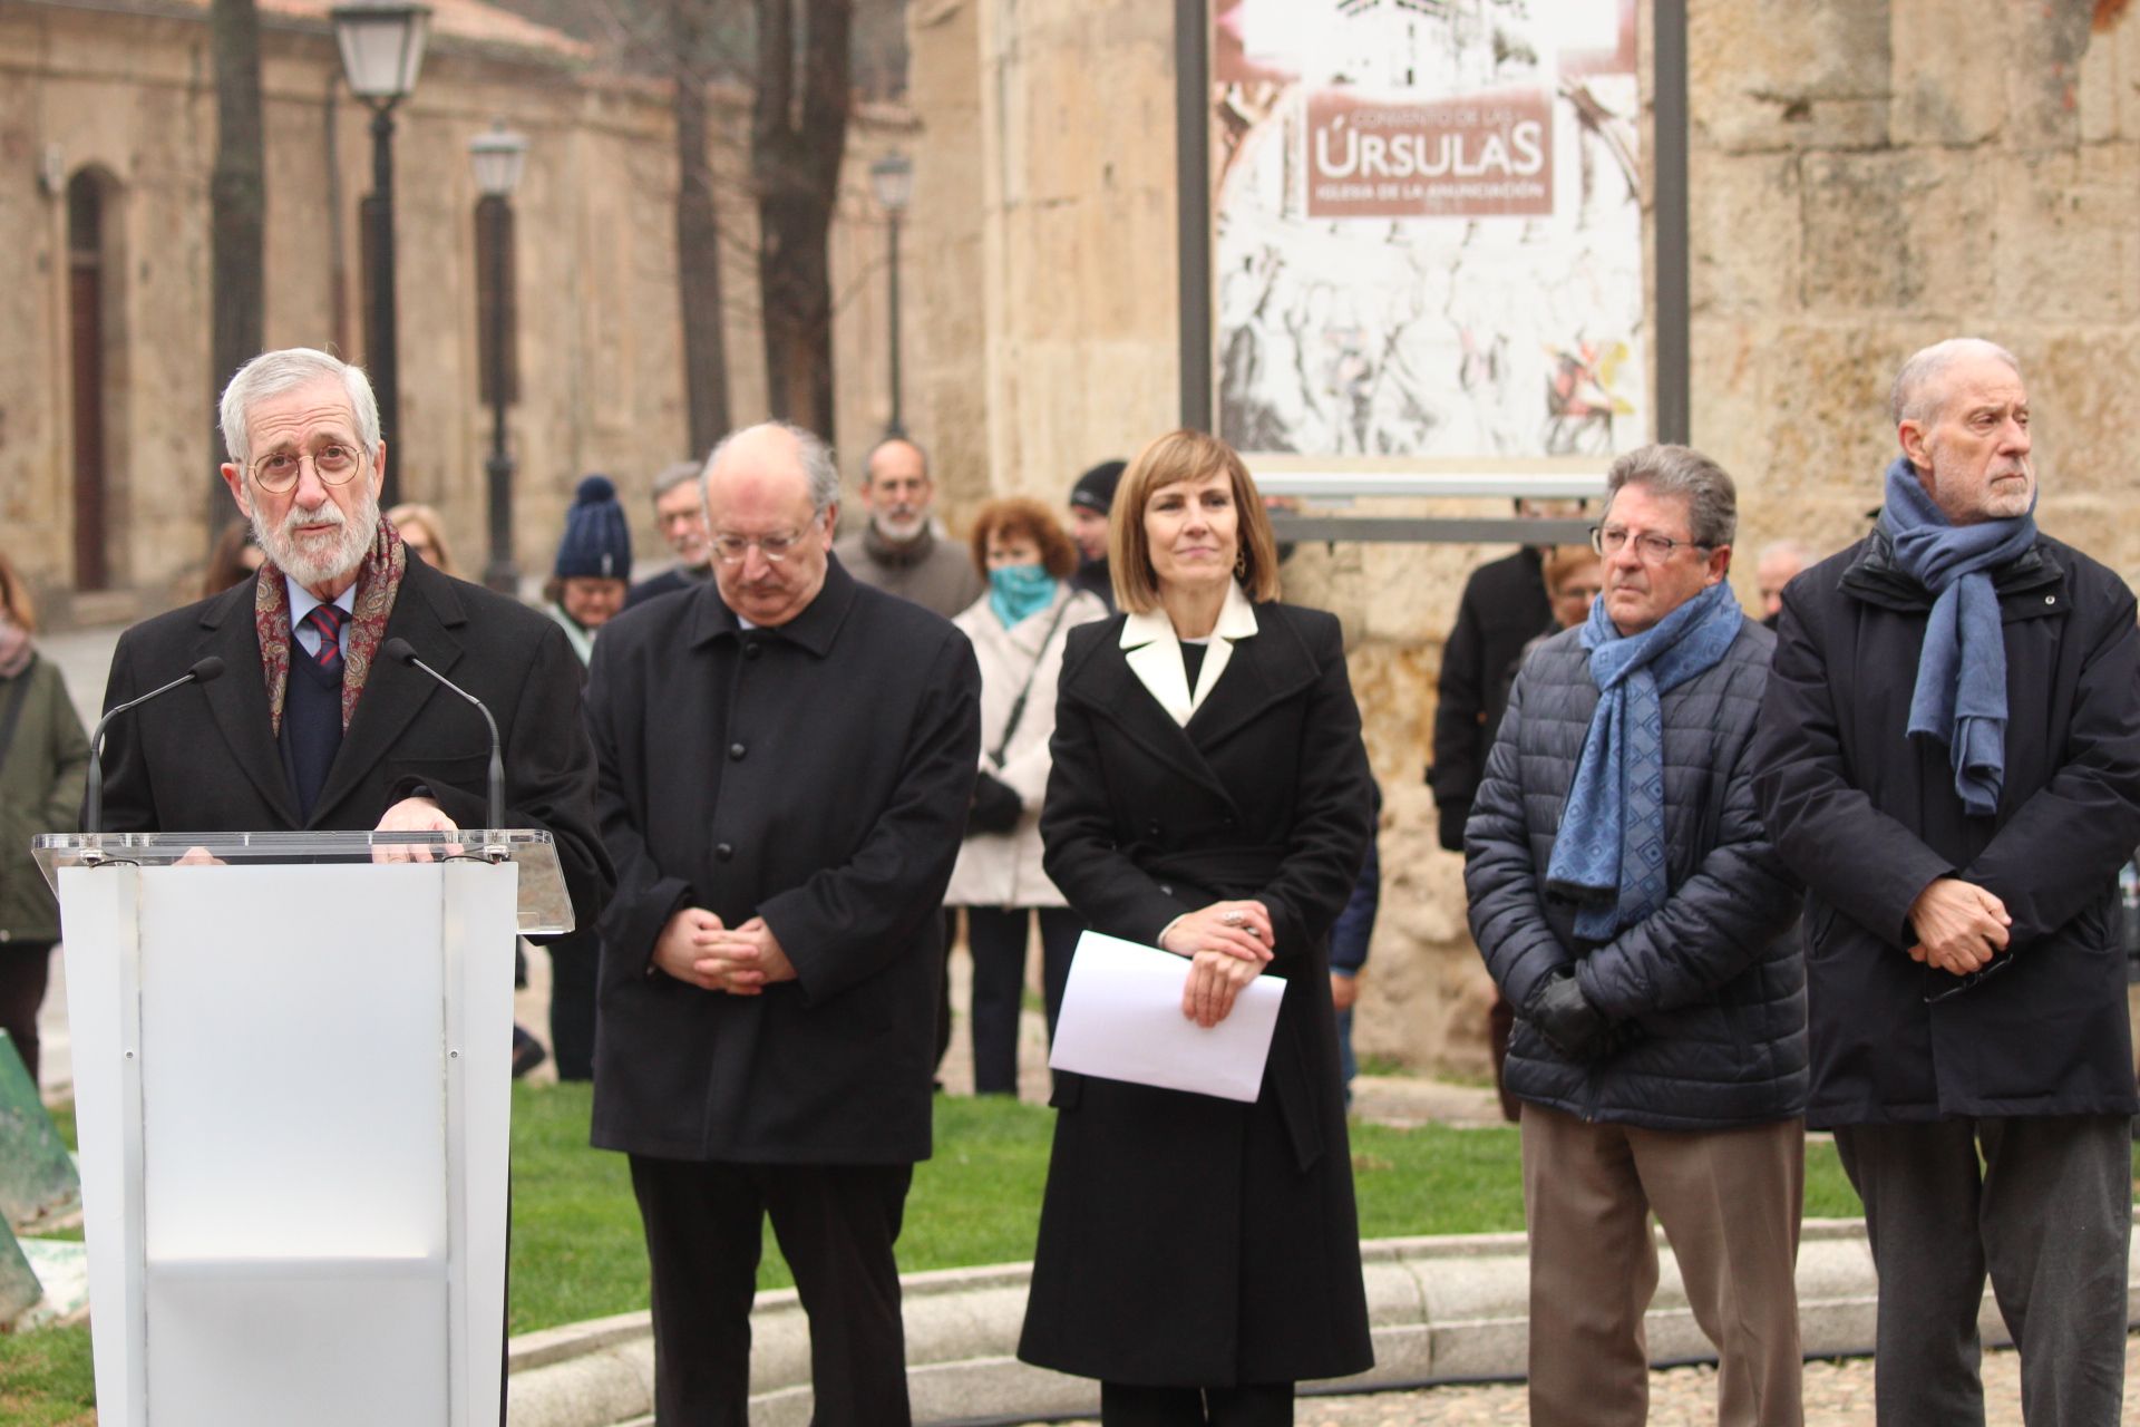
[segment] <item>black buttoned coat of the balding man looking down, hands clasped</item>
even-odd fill
[[[948,620],[832,561],[779,629],[706,582],[610,620],[586,717],[618,890],[601,920],[595,1145],[732,1164],[929,1157],[944,884],[980,766]],[[796,980],[653,967],[670,914],[764,916]]]

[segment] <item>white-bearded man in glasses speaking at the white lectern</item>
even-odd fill
[[[541,614],[452,580],[379,516],[385,441],[370,381],[323,351],[270,351],[223,392],[223,481],[265,565],[128,629],[105,708],[220,659],[227,678],[111,721],[105,830],[422,832],[486,822],[479,697],[505,742],[505,822],[548,830],[582,922],[612,884],[593,828],[580,661]]]

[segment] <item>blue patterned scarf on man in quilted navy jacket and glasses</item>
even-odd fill
[[[1581,642],[1599,706],[1560,813],[1545,888],[1581,903],[1575,933],[1609,941],[1665,905],[1665,712],[1661,693],[1710,670],[1746,616],[1716,582],[1637,635],[1590,605]]]

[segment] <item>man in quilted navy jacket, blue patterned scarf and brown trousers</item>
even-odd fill
[[[1605,593],[1517,674],[1464,830],[1472,937],[1519,1008],[1530,1421],[1648,1416],[1654,1213],[1716,1421],[1798,1427],[1806,971],[1748,757],[1774,635],[1725,584],[1716,462],[1652,445],[1605,490]]]

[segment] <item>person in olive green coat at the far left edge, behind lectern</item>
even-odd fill
[[[30,839],[77,826],[90,768],[81,719],[58,665],[39,657],[34,631],[30,586],[0,554],[0,1031],[15,1042],[32,1085],[60,907],[30,860]]]

